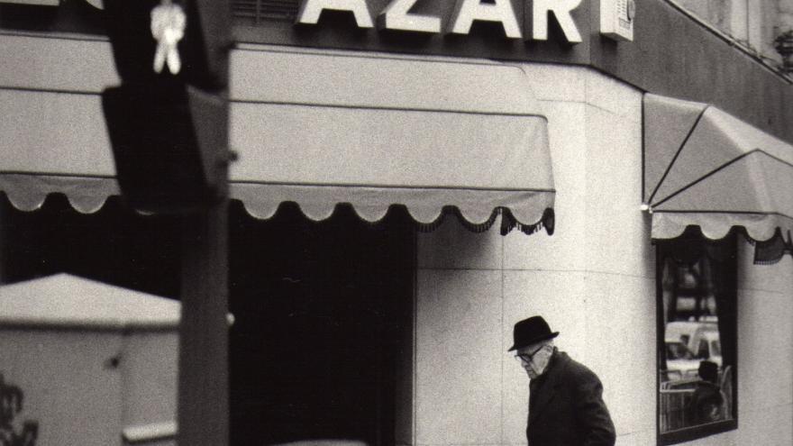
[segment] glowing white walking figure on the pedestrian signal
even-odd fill
[[[154,52],[154,71],[162,72],[162,66],[168,64],[171,74],[178,74],[182,68],[179,59],[178,42],[185,37],[187,15],[181,6],[162,0],[160,5],[151,10],[151,35],[157,40]]]

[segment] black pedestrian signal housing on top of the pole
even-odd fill
[[[154,69],[151,12],[164,4],[178,5],[186,19],[176,73]],[[231,160],[228,2],[105,0],[105,13],[122,84],[105,89],[102,105],[124,200],[155,214],[213,205],[228,193]]]

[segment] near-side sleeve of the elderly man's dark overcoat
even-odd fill
[[[614,446],[614,423],[603,402],[600,379],[587,370],[576,386],[576,418],[584,446]]]

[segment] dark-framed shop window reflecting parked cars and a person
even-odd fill
[[[736,240],[658,241],[660,444],[737,427]]]

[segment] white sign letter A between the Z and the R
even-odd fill
[[[481,3],[480,0],[457,0],[454,12],[451,14],[451,26],[448,32],[468,34],[475,20],[499,22],[504,26],[506,37],[510,39],[522,37],[515,19],[515,11],[512,10],[512,3],[509,0],[495,0],[493,4]]]

